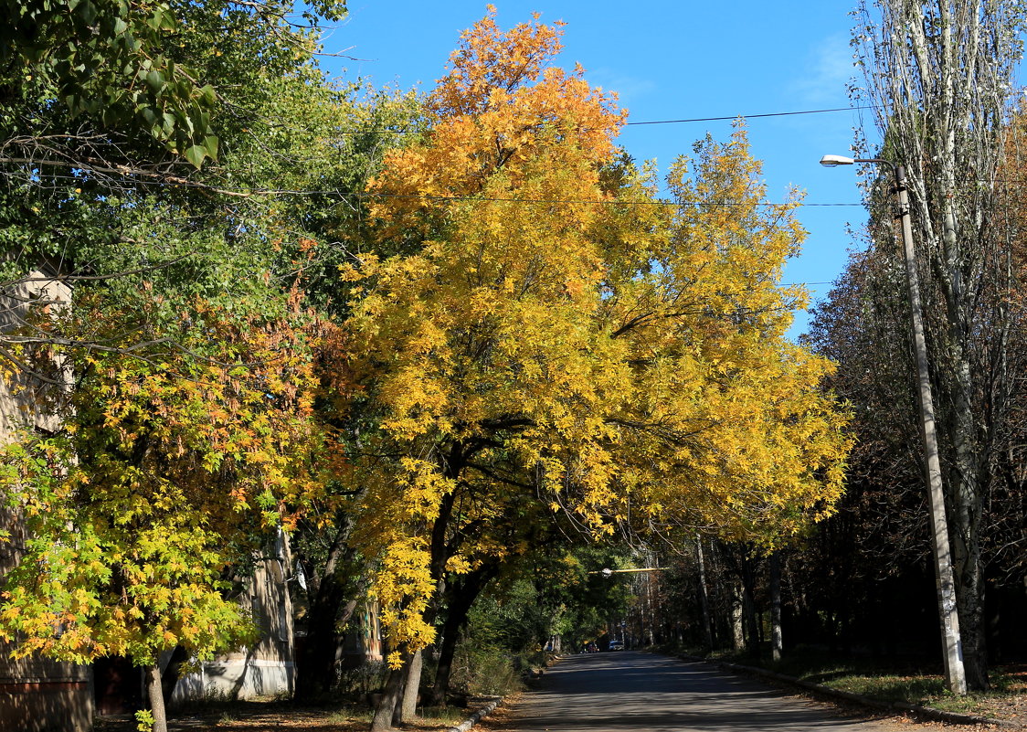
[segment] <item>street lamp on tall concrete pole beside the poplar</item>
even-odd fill
[[[909,286],[909,310],[913,328],[913,348],[916,351],[916,372],[920,395],[920,433],[923,436],[923,460],[927,473],[927,496],[930,506],[930,528],[935,549],[935,579],[938,585],[938,606],[941,615],[942,640],[945,646],[945,676],[954,694],[965,696],[966,675],[963,670],[962,644],[959,640],[959,615],[956,612],[955,579],[952,553],[949,549],[949,529],[945,517],[945,494],[942,490],[942,464],[938,456],[938,432],[935,425],[935,402],[927,372],[927,343],[923,337],[923,310],[920,304],[920,278],[913,249],[913,227],[910,223],[909,192],[906,188],[906,167],[883,158],[850,158],[825,155],[821,165],[835,167],[857,162],[886,165],[896,177],[895,192],[899,199],[896,219],[902,225],[903,253],[906,257],[906,283]]]

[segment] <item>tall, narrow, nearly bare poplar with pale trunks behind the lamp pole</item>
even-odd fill
[[[863,2],[853,33],[882,156],[906,166],[923,276],[967,685],[988,686],[981,528],[1009,394],[1010,288],[997,172],[1023,8],[1006,0]]]

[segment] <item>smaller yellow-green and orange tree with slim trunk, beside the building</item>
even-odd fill
[[[25,532],[0,632],[17,655],[130,658],[163,730],[159,655],[208,658],[251,638],[230,582],[320,486],[318,437],[313,342],[284,304],[193,301],[164,323],[182,345],[123,352],[135,328],[160,322],[141,307],[112,313],[83,295],[55,316],[70,332],[103,321],[109,348],[62,349],[74,383],[50,407],[63,426],[4,451],[5,504]]]

